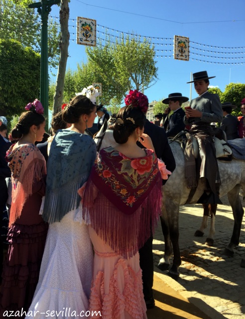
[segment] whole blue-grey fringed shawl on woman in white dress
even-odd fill
[[[85,134],[58,130],[50,147],[42,217],[49,223],[78,208],[77,190],[87,181],[96,158],[94,140]]]

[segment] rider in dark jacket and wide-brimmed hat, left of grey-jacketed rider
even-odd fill
[[[189,99],[182,96],[181,93],[171,93],[167,99],[162,101],[163,104],[168,104],[167,112],[174,111],[170,117],[165,117],[163,127],[166,131],[167,137],[174,137],[185,129],[184,116],[185,111],[181,108],[182,103],[187,102]]]

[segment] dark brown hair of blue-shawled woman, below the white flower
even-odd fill
[[[82,114],[90,115],[95,105],[85,95],[77,95],[70,100],[68,106],[62,111],[63,121],[66,123],[77,123]]]

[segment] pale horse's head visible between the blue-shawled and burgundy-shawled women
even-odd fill
[[[97,147],[97,151],[99,152],[102,149],[108,148],[109,146],[115,147],[117,146],[116,141],[113,137],[113,130],[108,128],[108,124],[113,124],[113,118],[111,117],[108,122],[105,121],[100,131],[96,133],[94,136],[94,141]]]

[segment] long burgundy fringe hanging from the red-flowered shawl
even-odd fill
[[[132,214],[125,214],[89,179],[82,201],[83,218],[115,252],[123,258],[130,258],[144,245],[157,225],[161,214],[161,185],[159,173],[140,206]]]

